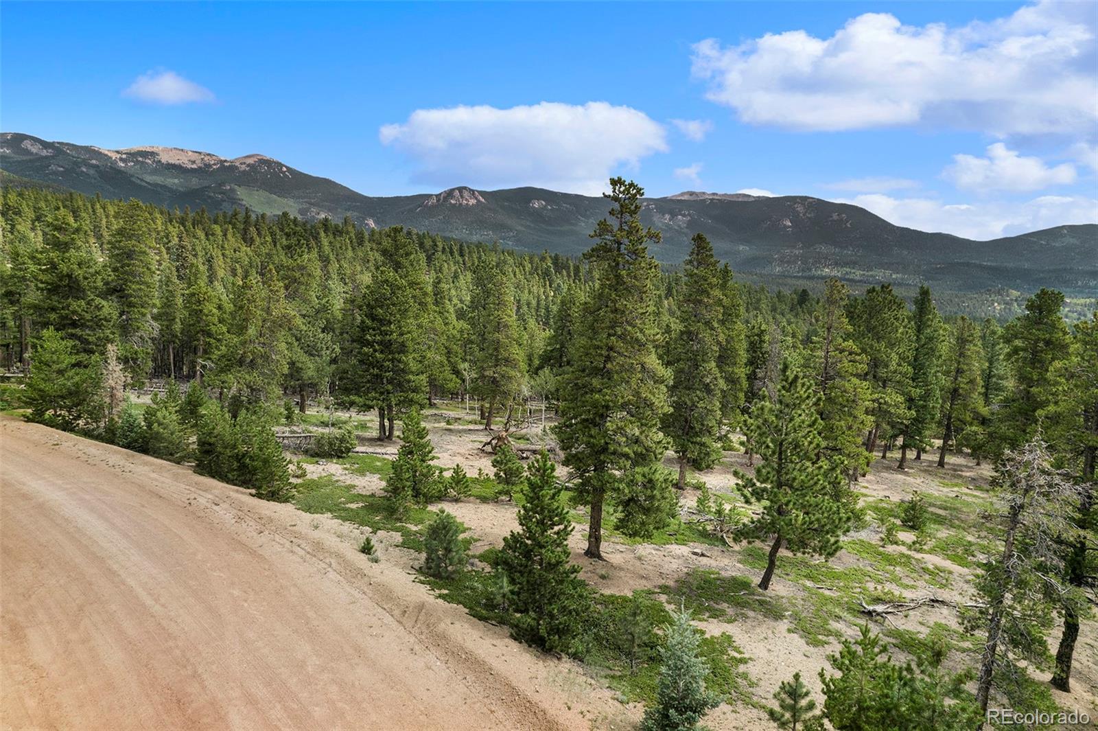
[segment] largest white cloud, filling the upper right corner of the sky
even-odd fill
[[[693,72],[709,81],[708,99],[751,124],[1093,136],[1096,18],[1091,3],[1050,0],[955,27],[865,13],[828,38],[788,31],[736,46],[702,41]]]

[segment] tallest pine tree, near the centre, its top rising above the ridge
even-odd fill
[[[564,464],[591,507],[586,555],[602,558],[603,504],[620,475],[657,461],[665,445],[659,424],[666,412],[666,373],[657,356],[659,265],[648,244],[658,232],[640,225],[643,189],[610,180],[610,217],[584,255],[595,278],[583,328],[562,379],[556,427]]]

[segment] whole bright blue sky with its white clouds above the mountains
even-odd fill
[[[1094,2],[5,1],[0,29],[0,126],[46,139],[374,195],[621,173],[976,238],[1098,221]]]

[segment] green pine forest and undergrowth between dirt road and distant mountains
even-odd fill
[[[688,609],[716,606],[701,583],[659,587],[677,597],[675,615],[656,587],[595,591],[570,559],[570,508],[598,564],[612,542],[747,547],[740,561],[761,578],[720,584],[716,604],[788,620],[810,646],[841,643],[831,674],[819,673],[834,729],[971,729],[993,700],[1055,709],[1032,677],[1049,670],[1052,686],[1071,687],[1098,573],[1098,312],[1069,325],[1052,289],[1006,323],[945,316],[925,285],[911,303],[888,283],[851,292],[837,279],[820,295],[770,292],[739,281],[704,230],[681,267],[661,271],[643,191],[612,188],[582,259],[349,220],[5,188],[0,352],[9,370],[29,370],[25,385],[5,387],[7,407],[369,526],[371,561],[378,531],[401,537],[447,600],[533,646],[612,667],[648,704],[646,728],[698,720],[721,700],[706,682],[728,702],[750,697],[735,642],[692,629]],[[154,379],[163,390],[137,408],[131,392]],[[435,464],[424,412],[440,401],[473,402],[493,475]],[[356,463],[383,476],[383,493],[335,499],[341,487],[304,460],[291,466],[273,427],[304,429],[317,412],[323,428],[298,435],[313,458],[348,458],[363,417],[373,443],[399,436],[392,461]],[[447,426],[466,418],[439,414]],[[929,547],[942,510],[917,491],[886,505],[860,490],[886,470],[962,459],[995,465],[979,543],[959,532]],[[710,492],[697,475],[722,463],[735,465],[727,490]],[[515,529],[469,567],[464,527],[427,508],[478,494],[519,507]],[[889,548],[899,530],[903,552]],[[843,551],[875,556],[872,569],[842,573],[829,562]],[[912,558],[934,552],[959,573]],[[908,574],[881,573],[895,566]],[[906,630],[916,662],[900,665],[881,657],[867,626],[860,640],[832,628],[850,612],[899,611],[910,601],[897,591],[916,575],[967,582],[968,600],[950,605],[960,619],[941,630],[949,642]],[[772,584],[805,577],[804,604],[777,609]],[[877,580],[894,588],[870,591]],[[856,603],[841,594],[854,584],[866,592]],[[931,599],[949,604],[916,607]],[[959,665],[943,664],[951,651]],[[807,693],[799,675],[783,682],[772,718],[810,711]]]

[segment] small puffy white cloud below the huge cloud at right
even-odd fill
[[[966,190],[1033,191],[1075,182],[1075,166],[1064,162],[1049,167],[1039,157],[1022,157],[1002,143],[995,143],[988,146],[987,157],[954,155],[953,165],[942,171],[942,177]]]

